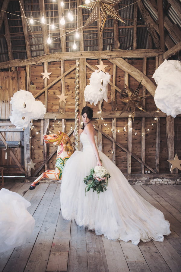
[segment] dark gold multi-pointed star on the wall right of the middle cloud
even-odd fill
[[[122,89],[121,94],[123,94],[124,96],[127,97],[121,97],[120,100],[123,103],[126,103],[125,107],[123,108],[122,112],[120,113],[120,115],[125,112],[126,110],[128,110],[129,108],[131,108],[131,113],[132,113],[132,118],[134,121],[134,116],[135,116],[135,108],[139,108],[141,111],[146,112],[145,108],[141,105],[140,101],[145,99],[148,96],[151,95],[147,95],[147,96],[138,96],[139,94],[139,90],[140,90],[140,86],[141,86],[141,82],[139,83],[138,87],[135,89],[135,91],[131,88],[129,88],[128,86],[126,86],[126,88]]]

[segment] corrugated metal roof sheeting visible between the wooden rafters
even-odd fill
[[[58,13],[58,4],[50,0],[42,0],[44,1],[45,10],[44,15],[46,15],[46,24],[47,30],[52,38],[52,44],[49,45],[50,53],[61,52],[61,39],[60,39],[60,30],[62,28],[61,24],[59,24],[59,13]],[[145,8],[149,11],[151,17],[155,22],[157,22],[158,18],[149,4],[149,0],[142,1]],[[181,3],[181,0],[178,0]],[[33,3],[33,5],[32,5]],[[82,1],[84,3],[84,1]],[[132,50],[133,46],[133,21],[134,21],[134,0],[122,0],[117,5],[117,9],[119,10],[119,15],[125,21],[125,24],[121,21],[118,21],[119,28],[119,43],[121,50]],[[179,15],[176,10],[169,4],[167,0],[163,1],[164,4],[164,12],[165,15],[169,18],[169,20],[177,26],[180,30],[181,21]],[[0,3],[2,5],[2,3]],[[70,21],[67,17],[68,10],[72,10],[74,14],[74,21]],[[91,10],[82,8],[83,14],[83,24],[87,21]],[[67,52],[74,51],[72,49],[74,40],[75,40],[75,30],[77,29],[77,6],[76,1],[64,1],[64,15],[65,15],[65,30],[66,30],[66,50]],[[29,34],[30,39],[30,50],[32,57],[40,56],[44,54],[44,45],[43,45],[43,35],[42,35],[42,26],[40,21],[40,7],[39,0],[24,0],[24,13],[27,17],[27,32]],[[30,24],[31,14],[33,16],[34,24]],[[14,54],[14,59],[26,59],[26,45],[24,38],[24,31],[22,27],[21,21],[21,12],[20,12],[20,4],[19,1],[10,0],[8,5],[8,24],[9,24],[9,32],[11,38],[11,44]],[[50,16],[50,17],[49,17]],[[146,49],[148,47],[148,29],[145,27],[143,16],[141,15],[139,8],[137,14],[137,49]],[[103,30],[103,50],[114,50],[114,27],[113,27],[113,18],[110,16],[107,17],[105,27]],[[54,22],[56,28],[52,30],[49,27],[49,22],[52,24]],[[166,33],[170,35],[167,31]],[[84,30],[84,51],[97,51],[98,50],[98,33],[97,33],[97,21],[92,23]],[[48,37],[47,37],[48,38]],[[176,43],[173,37],[170,38]],[[80,50],[79,41],[76,40],[77,49]],[[117,48],[116,48],[117,49]],[[8,47],[5,39],[5,27],[4,24],[0,30],[0,62],[8,61]]]

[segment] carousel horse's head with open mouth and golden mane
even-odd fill
[[[68,135],[64,132],[57,131],[54,134],[43,135],[44,142],[55,144],[55,145],[63,145],[64,150],[67,151],[68,155],[71,156],[74,153],[72,143]]]

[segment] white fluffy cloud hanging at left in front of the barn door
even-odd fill
[[[32,93],[25,90],[14,93],[10,103],[12,105],[10,121],[16,128],[27,128],[31,119],[43,119],[46,113],[46,108],[43,103],[36,101]],[[24,107],[24,103],[26,107]]]

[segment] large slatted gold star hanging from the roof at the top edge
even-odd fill
[[[100,25],[100,37],[103,33],[104,24],[106,18],[109,15],[111,18],[117,19],[124,23],[119,13],[115,10],[114,5],[118,4],[121,0],[97,0],[90,2],[88,4],[80,5],[81,8],[91,9],[92,12],[85,22],[83,29],[88,25],[92,24],[94,21],[99,20]]]

